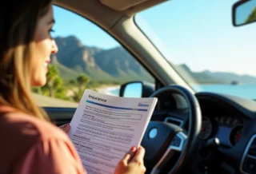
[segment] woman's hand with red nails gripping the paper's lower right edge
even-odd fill
[[[130,152],[119,161],[114,174],[142,174],[146,172],[143,158],[145,149],[139,146],[138,149],[131,148]]]

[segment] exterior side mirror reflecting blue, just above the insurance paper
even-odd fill
[[[121,85],[120,97],[150,97],[154,93],[154,84],[147,84],[142,81],[131,81]]]

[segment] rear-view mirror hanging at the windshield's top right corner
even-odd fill
[[[243,26],[256,22],[256,0],[241,0],[232,7],[234,26]]]

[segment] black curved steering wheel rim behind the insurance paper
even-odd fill
[[[186,167],[184,165],[190,160],[190,157],[194,153],[194,149],[198,143],[198,135],[202,126],[202,114],[200,105],[194,94],[190,93],[188,89],[180,85],[165,86],[158,89],[158,91],[153,93],[150,97],[160,97],[166,93],[181,95],[185,98],[189,108],[189,129],[187,132],[186,144],[182,148],[182,152],[177,162],[174,164],[174,167],[168,172],[170,174],[174,174],[180,172],[183,167]]]

